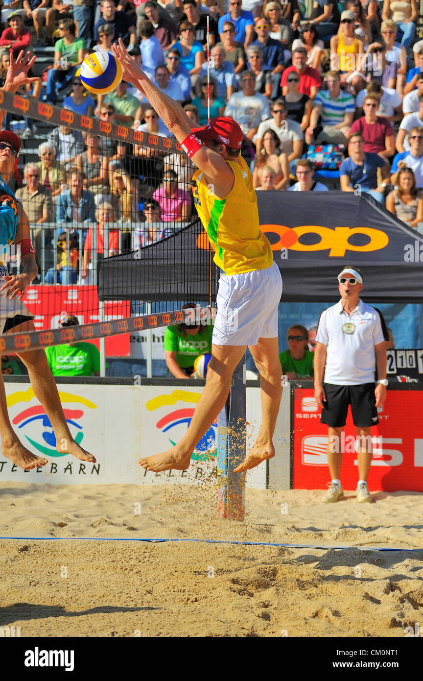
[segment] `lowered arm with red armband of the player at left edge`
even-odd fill
[[[0,289],[0,291],[3,291],[3,296],[10,298],[10,300],[13,300],[16,296],[21,299],[27,286],[38,274],[33,244],[31,243],[28,216],[18,202],[16,203],[16,208],[18,209],[19,221],[14,243],[16,250],[20,249],[21,271],[20,274],[5,276],[5,283]]]

